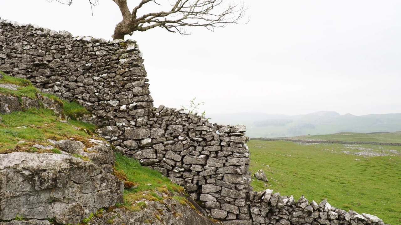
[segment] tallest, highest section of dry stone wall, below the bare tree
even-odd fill
[[[135,41],[73,37],[0,19],[0,71],[76,100],[96,125],[134,126],[133,116],[153,106],[142,62]]]

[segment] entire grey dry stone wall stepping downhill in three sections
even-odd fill
[[[211,124],[188,110],[153,107],[138,45],[72,36],[0,19],[0,70],[93,113],[119,151],[186,188],[227,225],[383,225],[304,197],[252,191],[245,127]]]

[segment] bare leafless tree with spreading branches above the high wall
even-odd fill
[[[72,0],[48,0],[71,5]],[[88,0],[90,6],[96,6],[98,0]],[[146,31],[155,27],[162,27],[169,32],[188,34],[186,27],[202,26],[209,30],[217,27],[225,27],[227,24],[246,24],[249,21],[241,21],[245,16],[244,2],[225,3],[224,0],[140,0],[132,11],[128,8],[127,0],[112,0],[119,7],[123,20],[114,29],[113,39],[124,39],[127,34],[132,35],[136,31]],[[168,5],[168,11],[150,12],[138,14],[148,4],[159,6]]]

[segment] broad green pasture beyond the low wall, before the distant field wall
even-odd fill
[[[309,201],[327,199],[334,207],[401,224],[401,146],[252,140],[248,147],[251,172],[263,169],[269,179],[268,187],[252,181],[255,191],[269,188],[296,199],[301,195]],[[342,151],[393,156],[363,157]]]

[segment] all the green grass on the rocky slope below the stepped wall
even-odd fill
[[[4,75],[0,83],[21,86],[18,90],[0,88],[0,93],[2,94],[35,98],[36,93],[39,92],[29,81],[20,78]],[[57,96],[50,94],[43,95],[49,96],[61,103],[63,105],[63,112],[70,118],[81,117],[89,113],[76,102],[61,101]],[[2,122],[0,123],[0,154],[15,151],[60,153],[58,149],[41,150],[32,147],[32,145],[50,144],[47,139],[61,140],[72,138],[79,141],[87,137],[97,138],[92,135],[96,129],[94,125],[74,119],[69,120],[69,123],[62,123],[52,110],[44,108],[30,108],[24,112],[16,111],[10,114],[0,114],[0,116],[2,117]],[[182,197],[181,194],[184,193],[184,189],[172,183],[170,179],[163,177],[158,171],[142,167],[138,161],[129,159],[121,154],[116,153],[115,156],[115,175],[117,177],[124,177],[125,180],[131,181],[131,184],[135,185],[130,189],[124,190],[124,204],[120,205],[120,207],[126,207],[130,210],[141,210],[143,207],[146,207],[146,203],[134,203],[135,201],[142,199],[162,201],[163,197],[160,197],[160,194],[158,195],[156,191],[164,193],[166,197],[177,199],[183,205],[192,205]]]

